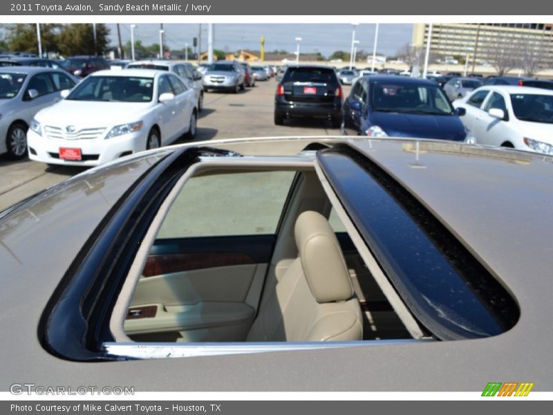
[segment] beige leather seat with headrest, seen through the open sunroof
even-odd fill
[[[276,284],[266,287],[247,341],[362,340],[362,315],[339,243],[328,221],[303,212],[299,251]]]

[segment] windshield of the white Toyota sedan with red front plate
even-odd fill
[[[149,102],[153,79],[126,76],[89,76],[66,98],[75,101]]]

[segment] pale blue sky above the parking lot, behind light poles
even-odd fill
[[[111,29],[111,44],[117,46],[117,27]],[[142,44],[159,44],[159,24],[140,24],[135,28],[135,40]],[[183,49],[198,37],[199,24],[164,24],[165,42],[171,49]],[[259,50],[261,36],[265,36],[265,51],[296,50],[296,37],[301,37],[300,53],[320,52],[325,57],[335,50],[349,51],[353,26],[350,24],[214,24],[214,48],[234,52],[245,48]],[[122,43],[131,39],[131,24],[120,24]],[[397,50],[411,42],[412,24],[380,24],[377,52],[395,55]],[[375,24],[359,24],[355,39],[357,50],[372,53]],[[202,25],[202,50],[207,50],[207,24]]]

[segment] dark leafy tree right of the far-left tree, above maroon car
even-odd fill
[[[59,53],[64,56],[104,55],[109,45],[109,28],[97,24],[94,42],[92,24],[66,24],[57,39]]]

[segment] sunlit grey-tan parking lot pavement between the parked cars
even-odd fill
[[[221,138],[269,137],[269,136],[333,136],[324,120],[288,120],[283,126],[274,125],[274,78],[256,82],[238,94],[205,93],[204,110],[198,120],[196,141]],[[343,86],[344,96],[350,87]],[[185,142],[178,140],[175,144]],[[81,167],[48,167],[30,160],[11,161],[0,156],[0,210],[25,199],[65,178],[83,172]]]

